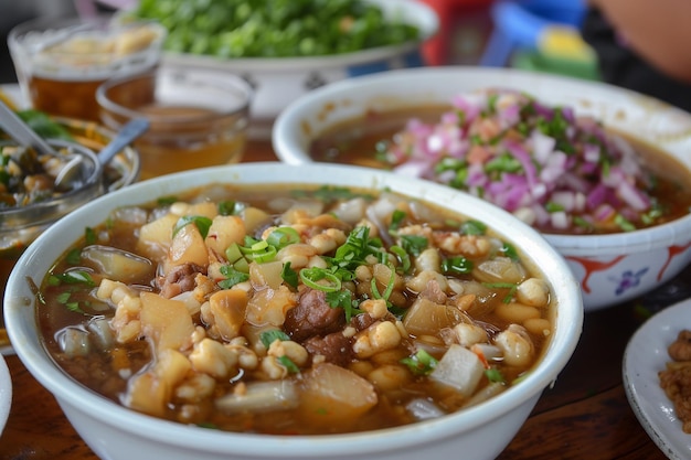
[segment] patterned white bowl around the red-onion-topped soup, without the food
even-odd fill
[[[311,141],[368,110],[448,104],[453,95],[487,87],[517,88],[551,105],[567,105],[634,138],[645,139],[691,169],[691,116],[662,101],[614,86],[507,68],[427,67],[352,78],[312,92],[276,120],[273,145],[290,164],[312,162]],[[641,296],[691,261],[691,215],[630,233],[545,235],[567,259],[586,311]]]

